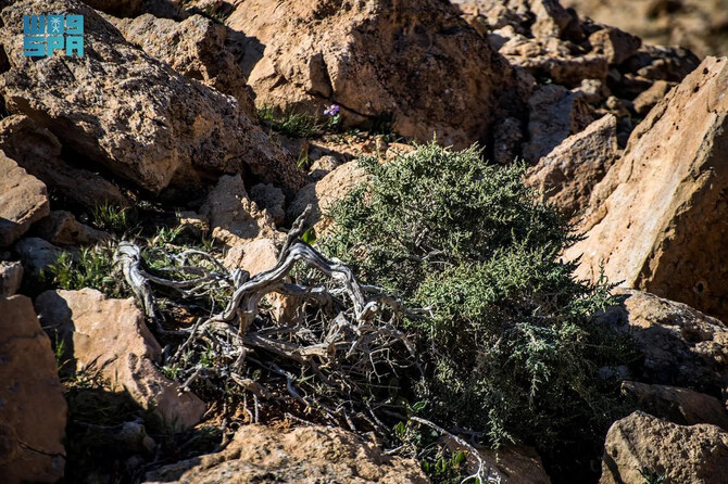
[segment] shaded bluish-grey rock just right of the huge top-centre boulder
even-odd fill
[[[528,133],[524,158],[536,163],[593,119],[587,101],[556,85],[538,88],[528,100]]]

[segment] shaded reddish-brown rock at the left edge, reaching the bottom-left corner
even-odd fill
[[[55,482],[66,403],[48,335],[26,296],[0,296],[0,481]]]

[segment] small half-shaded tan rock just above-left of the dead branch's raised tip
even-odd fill
[[[273,218],[248,198],[240,175],[219,177],[200,214],[210,221],[212,237],[229,246],[275,234]]]

